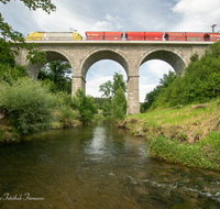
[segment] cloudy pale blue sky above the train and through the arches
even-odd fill
[[[220,0],[52,0],[56,12],[47,14],[41,9],[30,11],[22,1],[0,2],[0,12],[13,30],[24,36],[29,32],[86,31],[176,31],[211,32],[217,24],[220,31]],[[168,70],[163,61],[148,61],[140,67],[140,101],[158,84]],[[121,73],[123,67],[113,61],[95,63],[86,76],[86,94],[101,97],[99,86]]]

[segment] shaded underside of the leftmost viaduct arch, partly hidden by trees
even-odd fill
[[[70,58],[68,57],[68,55],[66,55],[64,52],[62,51],[56,51],[56,50],[44,50],[44,52],[46,53],[46,61],[52,62],[52,61],[65,61],[68,62],[70,65]],[[34,65],[32,65],[30,62],[28,63],[28,74],[30,77],[32,77],[34,80],[37,80],[37,76],[38,73],[41,70],[41,68],[44,66],[45,64],[43,63],[36,63]],[[72,65],[73,66],[73,65]]]

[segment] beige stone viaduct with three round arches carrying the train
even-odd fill
[[[33,43],[33,42],[26,42]],[[86,89],[86,75],[89,67],[101,59],[118,62],[128,76],[128,114],[140,113],[139,68],[150,59],[162,59],[176,72],[183,73],[190,56],[201,56],[212,42],[167,42],[167,41],[35,41],[47,54],[47,62],[67,61],[73,69],[72,95],[78,88]],[[28,65],[29,75],[37,79],[43,64],[31,65],[26,61],[26,50],[21,50],[15,61]],[[105,70],[105,69],[103,69]]]

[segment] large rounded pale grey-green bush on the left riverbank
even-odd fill
[[[0,91],[0,107],[7,110],[21,134],[51,128],[56,97],[51,94],[50,87],[30,78],[18,78],[11,85],[1,81]]]

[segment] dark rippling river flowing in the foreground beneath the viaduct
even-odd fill
[[[220,172],[145,157],[103,121],[0,146],[0,209],[220,208]]]

